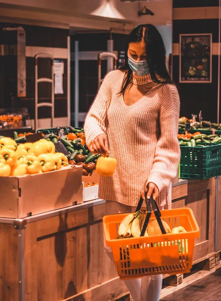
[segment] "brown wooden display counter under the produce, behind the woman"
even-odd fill
[[[199,224],[194,260],[209,256],[215,179],[182,181],[172,198],[173,208],[191,208]],[[97,200],[22,220],[1,218],[0,300],[107,301],[126,292],[104,252],[104,209],[105,201]]]

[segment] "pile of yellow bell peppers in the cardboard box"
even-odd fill
[[[24,176],[59,170],[68,158],[55,152],[55,144],[46,139],[17,145],[9,137],[0,139],[0,176]]]

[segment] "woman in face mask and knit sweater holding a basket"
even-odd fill
[[[128,36],[124,66],[106,75],[85,121],[90,151],[118,162],[113,177],[100,180],[106,215],[132,212],[145,189],[161,209],[171,207],[178,118],[179,96],[166,70],[162,37],[154,26],[140,25]],[[134,301],[159,300],[162,275],[124,282]]]

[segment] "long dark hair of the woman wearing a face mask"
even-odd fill
[[[119,68],[119,70],[127,71],[120,93],[123,93],[126,90],[132,77],[132,70],[128,65],[129,44],[138,43],[141,41],[144,41],[146,44],[146,60],[150,69],[152,81],[158,84],[168,83],[176,85],[172,81],[166,69],[166,50],[160,33],[155,26],[151,24],[145,24],[135,27],[128,36],[124,66]],[[157,78],[157,75],[160,77],[160,79]]]

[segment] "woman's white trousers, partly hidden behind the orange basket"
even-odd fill
[[[161,210],[162,208],[160,208]],[[126,206],[113,201],[106,201],[105,215],[123,214],[135,211],[135,208]],[[106,245],[104,248],[111,260],[114,260],[111,247]],[[143,276],[138,279],[124,280],[134,301],[159,301],[162,288],[162,275]]]

